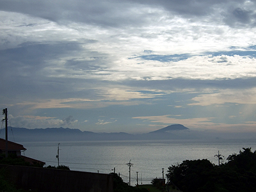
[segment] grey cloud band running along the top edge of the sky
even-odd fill
[[[248,4],[248,2],[250,4]],[[228,26],[244,24],[255,26],[255,1],[2,1],[0,10],[19,12],[54,22],[84,22],[102,26],[143,25],[148,16],[157,13],[141,13],[148,8],[161,8],[170,17],[196,20],[223,20]],[[136,10],[137,9],[137,10]]]

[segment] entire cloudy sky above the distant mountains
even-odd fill
[[[255,7],[255,0],[0,0],[8,125],[256,132]]]

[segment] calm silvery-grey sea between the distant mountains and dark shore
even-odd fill
[[[25,156],[44,161],[46,166],[58,166],[56,158],[59,142],[23,142]],[[131,184],[149,184],[154,178],[164,177],[168,167],[182,161],[208,159],[218,164],[220,154],[227,159],[239,150],[251,147],[256,150],[255,140],[239,141],[63,141],[60,142],[60,164],[81,172],[116,173],[129,181],[131,160]],[[226,160],[224,162],[227,162]],[[138,174],[136,173],[138,172]]]

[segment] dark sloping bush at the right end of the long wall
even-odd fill
[[[129,186],[126,182],[123,181],[121,177],[119,177],[116,173],[113,174],[113,188],[114,192],[148,192],[145,188],[136,188],[133,186]]]

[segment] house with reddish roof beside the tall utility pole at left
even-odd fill
[[[5,154],[6,150],[6,140],[3,140],[0,138],[0,154]],[[20,145],[19,143],[14,143],[12,141],[8,141],[8,154],[16,154],[17,157],[20,157],[24,159],[24,161],[28,162],[31,165],[41,165],[44,166],[43,161],[38,161],[36,159],[32,159],[30,157],[22,156],[21,152],[24,152],[27,150],[26,148],[23,147],[23,145]]]

